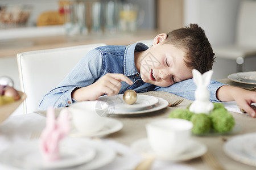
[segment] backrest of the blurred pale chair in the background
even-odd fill
[[[256,1],[241,1],[237,20],[237,44],[256,46]]]

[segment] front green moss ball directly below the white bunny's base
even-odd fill
[[[208,114],[204,113],[193,114],[190,121],[193,123],[193,134],[209,133],[212,126],[212,121],[210,120],[210,117],[208,116]]]

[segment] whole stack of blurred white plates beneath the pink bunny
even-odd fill
[[[115,159],[115,151],[100,141],[85,138],[65,138],[60,143],[60,159],[43,160],[39,140],[14,143],[1,152],[0,163],[19,169],[86,170],[103,167]]]

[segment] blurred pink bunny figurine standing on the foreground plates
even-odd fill
[[[40,136],[39,147],[43,155],[43,159],[52,162],[58,160],[59,143],[70,130],[68,109],[62,109],[59,117],[55,120],[55,112],[53,108],[47,110],[46,128],[44,128]]]

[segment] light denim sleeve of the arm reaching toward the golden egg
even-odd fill
[[[39,109],[66,107],[72,104],[75,101],[72,99],[72,92],[95,82],[101,71],[102,54],[99,50],[93,49],[81,58],[56,88],[43,97]]]

